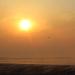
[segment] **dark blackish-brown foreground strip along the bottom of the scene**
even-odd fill
[[[0,64],[0,75],[75,75],[75,66]]]

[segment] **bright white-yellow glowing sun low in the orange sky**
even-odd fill
[[[22,31],[29,31],[32,27],[32,24],[29,20],[21,20],[19,25]]]

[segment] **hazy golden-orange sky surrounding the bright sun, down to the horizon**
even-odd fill
[[[22,18],[31,32],[18,31]],[[75,0],[0,0],[0,57],[74,59]]]

